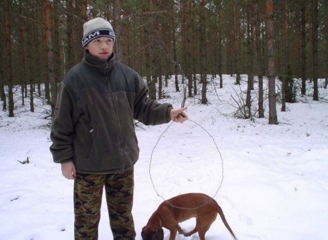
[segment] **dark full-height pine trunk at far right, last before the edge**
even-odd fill
[[[318,94],[318,0],[313,0],[312,57],[313,57],[313,100],[319,101]]]

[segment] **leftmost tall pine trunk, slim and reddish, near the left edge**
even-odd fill
[[[6,79],[8,85],[8,116],[14,117],[9,0],[4,0],[4,15],[5,15],[5,58],[6,58],[6,73],[7,73]]]

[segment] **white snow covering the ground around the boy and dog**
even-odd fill
[[[247,76],[242,80],[245,89]],[[183,91],[174,92],[173,81],[164,88],[170,98],[160,102],[179,107]],[[136,239],[163,200],[188,192],[213,197],[239,239],[328,239],[328,90],[323,80],[320,101],[299,96],[297,103],[286,105],[286,112],[277,104],[278,125],[269,125],[268,116],[232,118],[231,96],[240,89],[228,75],[223,84],[219,89],[217,80],[209,83],[207,105],[200,104],[199,95],[187,98],[190,121],[136,129]],[[15,94],[18,98],[18,88]],[[0,112],[2,240],[73,239],[73,181],[52,161],[49,120],[43,119],[48,107],[36,104],[32,113],[28,103],[18,106],[17,100],[14,118]],[[267,112],[268,103],[265,107]],[[27,157],[28,164],[17,161]],[[104,197],[99,240],[113,239],[105,203]],[[190,230],[194,224],[191,219],[181,226]],[[233,239],[220,218],[206,237]]]

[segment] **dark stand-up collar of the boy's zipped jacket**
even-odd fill
[[[106,72],[110,71],[115,64],[116,55],[113,52],[111,57],[107,60],[101,60],[89,53],[88,50],[84,51],[83,62],[90,67],[96,68],[99,71]]]

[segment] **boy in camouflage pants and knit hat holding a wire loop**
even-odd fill
[[[103,18],[83,26],[83,60],[59,83],[50,151],[67,179],[74,179],[74,237],[98,239],[103,188],[114,239],[134,239],[133,166],[139,148],[136,119],[145,125],[188,119],[148,98],[144,80],[116,62],[115,33]]]

